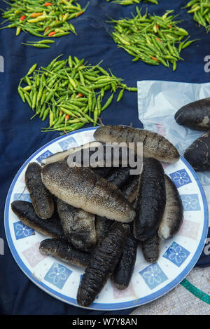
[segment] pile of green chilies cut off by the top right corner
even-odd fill
[[[190,8],[188,13],[193,13],[193,19],[199,25],[208,27],[210,24],[210,1],[209,0],[192,0],[188,2],[185,8]]]

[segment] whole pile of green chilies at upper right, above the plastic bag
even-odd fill
[[[162,16],[137,15],[132,18],[112,20],[116,23],[111,36],[119,48],[134,56],[133,61],[142,60],[149,65],[165,65],[172,63],[173,70],[181,58],[181,51],[195,40],[189,41],[188,32],[178,26],[181,21],[175,21],[174,11],[167,11]],[[184,39],[184,40],[183,40]]]

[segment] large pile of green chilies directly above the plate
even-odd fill
[[[117,89],[120,90],[117,101],[124,90],[137,91],[100,67],[100,63],[92,66],[71,55],[68,60],[58,58],[48,67],[36,69],[34,64],[18,86],[22,101],[35,111],[34,116],[42,121],[49,116],[50,125],[43,131],[73,131],[85,123],[95,126],[102,111],[111,105]],[[104,102],[107,90],[111,95]]]

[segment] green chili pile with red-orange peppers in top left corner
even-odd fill
[[[10,8],[2,13],[5,18],[3,23],[9,21],[10,24],[3,28],[16,27],[17,36],[24,31],[39,37],[59,37],[71,32],[76,34],[68,21],[82,15],[88,6],[81,8],[76,0],[11,0],[11,3],[6,4],[10,4]]]

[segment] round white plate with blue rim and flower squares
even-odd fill
[[[95,129],[86,128],[58,137],[38,149],[15,175],[5,206],[6,238],[20,269],[46,293],[76,307],[76,293],[84,270],[41,255],[39,243],[46,237],[25,227],[12,212],[10,203],[14,200],[30,201],[24,178],[29,162],[41,163],[41,159],[50,154],[90,142],[94,140]],[[162,243],[160,258],[155,264],[146,262],[139,248],[130,286],[126,290],[117,290],[109,280],[88,309],[120,310],[151,302],[179,284],[199,259],[209,221],[204,191],[194,170],[183,157],[177,163],[165,164],[164,168],[175,182],[183,201],[184,221],[179,234]]]

